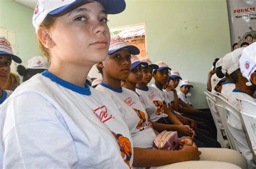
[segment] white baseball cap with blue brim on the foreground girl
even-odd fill
[[[126,6],[124,0],[38,0],[33,15],[33,26],[36,28],[36,32],[48,14],[56,15],[70,8],[70,6],[83,2],[99,3],[107,14],[120,13],[124,11]]]

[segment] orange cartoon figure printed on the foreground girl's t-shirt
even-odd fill
[[[122,158],[124,159],[125,163],[130,167],[130,160],[132,157],[132,147],[130,140],[121,134],[114,133],[113,131],[112,135],[114,136],[114,138],[116,138]]]

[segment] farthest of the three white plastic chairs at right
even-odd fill
[[[219,128],[218,120],[217,120],[216,115],[215,115],[215,113],[218,113],[218,112],[216,112],[216,110],[213,110],[213,107],[212,107],[212,105],[216,104],[215,97],[209,91],[205,91],[204,93],[206,94],[206,100],[207,100],[207,103],[208,103],[209,108],[211,110],[213,121],[214,121],[215,126],[217,128],[217,141],[220,143],[222,148],[228,148],[230,146],[230,144],[228,143],[228,140],[224,139],[223,133],[221,132],[221,130]]]

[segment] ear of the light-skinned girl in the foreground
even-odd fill
[[[39,27],[37,31],[38,39],[46,48],[51,48],[55,45],[54,41],[51,38],[50,31],[44,27]]]

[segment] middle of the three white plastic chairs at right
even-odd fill
[[[224,98],[222,98],[219,95],[214,95],[215,100],[216,100],[216,108],[219,112],[221,122],[223,123],[224,130],[227,135],[228,142],[230,143],[230,147],[233,150],[237,150],[240,152],[238,146],[237,146],[237,141],[235,138],[232,136],[231,132],[227,128],[227,112],[229,111],[230,113],[236,113],[238,114],[238,110],[235,109],[232,105],[230,105]],[[240,113],[239,113],[240,114]]]

